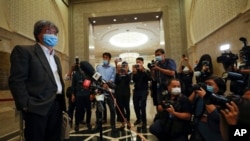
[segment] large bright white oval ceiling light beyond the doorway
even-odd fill
[[[148,36],[139,32],[123,32],[112,36],[110,44],[121,48],[132,48],[145,44]]]

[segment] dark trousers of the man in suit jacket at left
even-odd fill
[[[25,141],[60,141],[62,111],[55,100],[47,115],[23,112]]]

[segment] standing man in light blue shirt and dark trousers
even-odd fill
[[[114,83],[115,82],[115,77],[116,77],[116,68],[112,65],[110,65],[110,60],[111,60],[111,54],[109,52],[104,52],[102,54],[102,58],[103,58],[103,64],[102,65],[98,65],[96,67],[96,71],[99,72],[102,76],[102,79],[105,80],[107,83]],[[109,88],[108,84],[103,84],[103,88],[107,89]],[[106,103],[108,104],[109,110],[110,110],[110,124],[111,124],[111,128],[112,131],[117,131],[116,129],[116,122],[115,122],[115,118],[116,118],[116,109],[114,106],[114,102],[115,99],[113,99],[113,97],[109,94],[107,94],[105,101],[103,102],[103,107],[104,107],[104,111],[103,111],[103,122],[106,123],[107,122],[107,109],[106,109]],[[96,111],[96,120],[98,120],[98,111]],[[97,122],[97,121],[96,121]],[[96,127],[95,127],[95,131],[99,131],[100,127],[99,124],[96,123]]]

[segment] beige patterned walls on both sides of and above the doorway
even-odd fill
[[[208,53],[213,58],[215,74],[221,75],[222,64],[216,62],[221,54],[219,46],[229,43],[232,52],[238,53],[242,47],[239,37],[250,40],[249,1],[109,0],[73,4],[68,9],[61,0],[0,0],[0,52],[8,56],[16,44],[33,44],[33,24],[39,19],[48,19],[60,29],[59,45],[55,49],[66,73],[74,56],[88,60],[88,17],[162,11],[167,56],[178,63],[180,54],[187,51],[193,65],[202,54]],[[4,64],[5,68],[6,65],[9,62]],[[0,98],[8,97],[9,91],[0,90]],[[13,103],[0,103],[1,114],[15,116],[13,109]],[[18,119],[10,122],[8,118],[0,117],[0,125],[13,122],[15,129],[18,128]],[[0,129],[0,137],[10,131],[13,129]]]

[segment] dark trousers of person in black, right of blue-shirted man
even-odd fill
[[[130,94],[129,95],[119,95],[117,94],[116,102],[117,106],[116,113],[117,113],[117,121],[119,122],[125,122],[124,118],[126,118],[127,121],[130,121],[130,107],[129,107],[129,100],[130,100]]]

